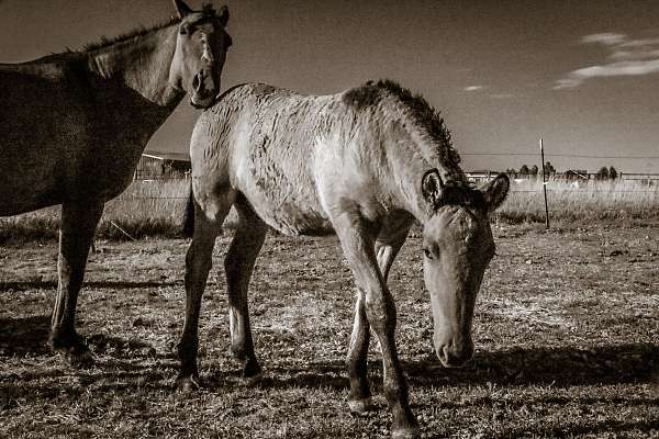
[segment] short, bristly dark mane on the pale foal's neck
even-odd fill
[[[398,99],[409,111],[414,122],[424,128],[431,139],[438,146],[433,151],[438,154],[442,164],[457,168],[460,155],[453,148],[450,132],[444,124],[439,111],[435,110],[421,94],[413,94],[409,89],[401,87],[392,80],[368,81],[364,86],[348,90],[344,94],[344,102],[362,110],[377,104],[383,93],[389,93]]]

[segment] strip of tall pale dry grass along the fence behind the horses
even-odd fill
[[[144,237],[180,237],[187,180],[135,181],[121,196],[105,206],[97,232],[100,239],[126,240]],[[659,218],[659,185],[634,181],[590,181],[573,187],[562,181],[547,184],[550,219],[554,224],[588,224],[593,221],[640,222]],[[513,182],[495,221],[544,223],[543,184],[537,180]],[[235,222],[230,214],[228,226]],[[59,207],[48,207],[9,218],[0,218],[0,244],[56,239]],[[124,234],[121,229],[125,230]]]

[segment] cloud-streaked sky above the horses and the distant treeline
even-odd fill
[[[234,41],[223,89],[325,94],[389,78],[442,111],[466,170],[539,165],[541,137],[559,171],[659,173],[657,0],[213,1],[223,3]],[[0,0],[0,63],[172,13],[168,0]],[[187,150],[198,115],[183,102],[147,149]]]

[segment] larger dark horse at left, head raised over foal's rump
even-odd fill
[[[72,362],[91,359],[75,314],[104,203],[131,183],[147,140],[186,93],[206,108],[220,91],[226,7],[175,5],[166,24],[0,65],[0,215],[62,204],[51,346]]]

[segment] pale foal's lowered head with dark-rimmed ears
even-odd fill
[[[423,232],[424,279],[431,293],[435,351],[442,363],[460,367],[473,356],[471,319],[494,240],[488,218],[507,194],[505,175],[480,189],[444,183],[436,169],[423,177],[433,214]]]

